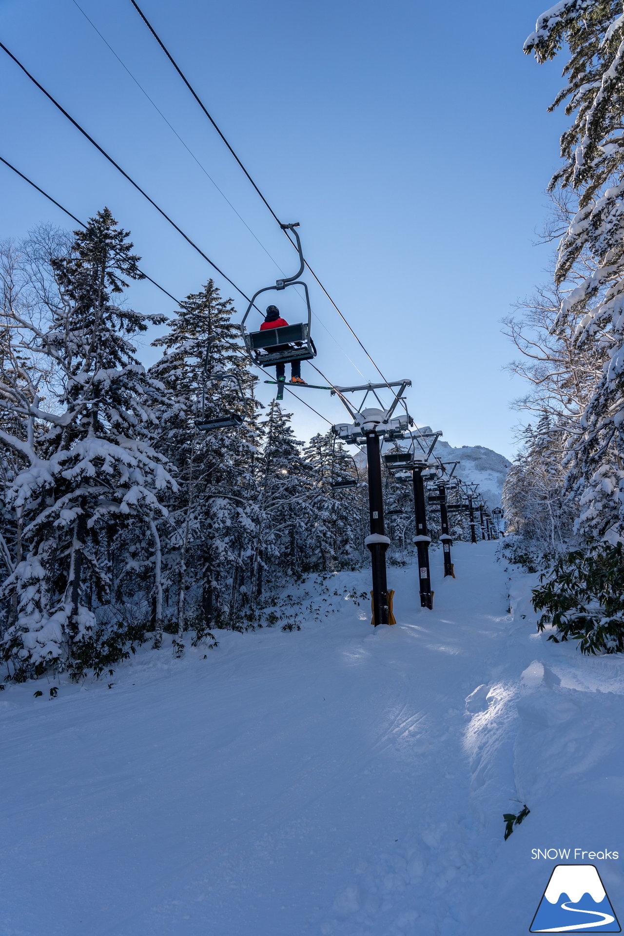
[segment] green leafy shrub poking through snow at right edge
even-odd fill
[[[538,630],[556,628],[549,640],[577,640],[582,653],[624,650],[624,554],[622,544],[596,542],[559,559],[533,589]]]

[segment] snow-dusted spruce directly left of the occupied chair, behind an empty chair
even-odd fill
[[[159,411],[159,450],[177,468],[179,490],[169,495],[167,581],[179,646],[210,627],[238,624],[249,592],[249,556],[257,524],[255,461],[258,404],[249,359],[232,322],[232,300],[212,280],[181,301],[152,377],[166,389]],[[238,426],[202,431],[225,414]]]

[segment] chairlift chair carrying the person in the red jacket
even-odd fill
[[[282,280],[277,280],[274,286],[265,286],[258,289],[249,305],[247,311],[242,316],[240,322],[240,333],[242,340],[247,348],[247,353],[261,367],[272,367],[275,364],[288,364],[294,360],[310,360],[316,357],[316,348],[312,342],[310,334],[312,324],[312,308],[310,305],[310,293],[308,285],[299,279],[299,276],[305,269],[305,260],[301,250],[301,241],[297,233],[297,224],[282,225],[283,230],[291,230],[297,239],[297,251],[299,255],[299,269],[294,276],[286,276]],[[303,286],[305,293],[306,307],[308,310],[308,319],[305,322],[298,322],[295,325],[283,325],[279,329],[262,329],[259,331],[247,331],[245,321],[247,316],[254,308],[255,300],[261,293],[270,289],[285,289],[286,286]],[[296,343],[296,344],[295,344]]]

